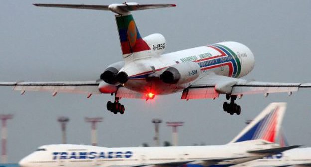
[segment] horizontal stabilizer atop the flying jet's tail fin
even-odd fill
[[[135,10],[147,10],[156,8],[176,7],[175,4],[138,4],[138,3],[123,3],[111,5],[85,5],[85,4],[33,4],[38,7],[59,7],[59,8],[75,8],[75,9],[90,9],[90,10],[105,10],[112,11],[117,14],[127,14]]]

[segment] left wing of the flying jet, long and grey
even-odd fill
[[[13,86],[13,90],[21,91],[45,91],[64,93],[101,94],[98,90],[98,81],[73,81],[73,82],[0,82],[0,86]]]

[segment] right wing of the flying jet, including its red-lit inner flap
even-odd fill
[[[311,83],[257,82],[208,74],[184,89],[181,99],[217,98],[219,94],[245,95],[287,92],[291,95],[299,88],[311,88]]]

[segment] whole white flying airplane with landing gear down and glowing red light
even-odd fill
[[[73,82],[0,82],[13,90],[111,94],[114,101],[107,109],[114,114],[124,113],[121,98],[153,99],[156,95],[182,92],[181,99],[215,99],[226,94],[230,102],[223,103],[231,115],[241,113],[235,100],[245,94],[298,91],[310,88],[311,83],[255,82],[238,79],[254,68],[254,55],[238,42],[220,42],[177,52],[162,54],[166,41],[161,34],[142,37],[131,11],[175,7],[174,4],[123,3],[111,5],[34,4],[41,7],[61,7],[107,10],[116,13],[123,61],[109,65],[97,80]]]

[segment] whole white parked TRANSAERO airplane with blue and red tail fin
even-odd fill
[[[271,103],[230,143],[214,146],[107,148],[46,145],[23,158],[20,167],[230,166],[298,146],[276,141],[286,103]]]

